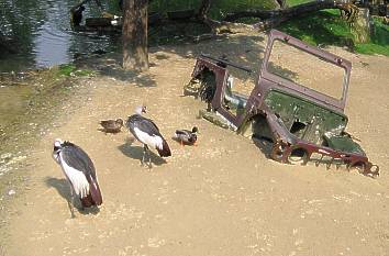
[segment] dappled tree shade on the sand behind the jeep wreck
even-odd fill
[[[156,58],[156,62],[151,62],[149,66],[158,66],[159,60],[169,59],[171,54],[185,58],[196,58],[200,54],[208,54],[212,57],[224,56],[229,62],[253,69],[254,73],[248,76],[248,79],[254,82],[257,77],[258,67],[260,67],[263,60],[264,47],[258,46],[258,43],[263,41],[265,41],[265,37],[262,35],[218,35],[210,41],[205,40],[198,44],[188,41],[177,44],[158,45],[148,49],[149,54],[154,54]],[[227,52],[225,52],[225,46],[229,48]],[[75,64],[77,68],[97,70],[100,75],[135,84],[137,87],[147,88],[157,86],[155,77],[149,73],[124,70],[122,68],[122,57],[121,53],[95,54],[92,56],[79,57],[75,60]],[[247,79],[246,73],[231,67],[229,69],[231,69],[230,71],[233,73],[234,77]],[[171,71],[174,73],[175,70]]]

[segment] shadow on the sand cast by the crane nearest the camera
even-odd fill
[[[60,197],[63,197],[68,203],[71,203],[70,186],[66,179],[58,179],[53,177],[46,177],[45,183],[47,187],[53,187],[57,190]],[[77,198],[77,197],[76,197]],[[81,201],[77,198],[75,199],[74,208],[84,215],[87,214],[98,214],[100,212],[98,207],[85,208],[81,207]]]

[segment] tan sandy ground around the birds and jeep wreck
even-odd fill
[[[278,164],[251,140],[197,119],[204,104],[182,97],[199,53],[224,53],[256,68],[265,38],[153,48],[144,75],[99,66],[101,76],[81,81],[90,94],[64,101],[67,108],[18,170],[30,178],[4,196],[0,255],[389,255],[389,58],[329,48],[353,63],[347,131],[380,166],[377,179]],[[71,108],[75,100],[81,108]],[[142,103],[173,149],[166,163],[153,156],[152,170],[140,166],[142,145],[127,131],[98,131],[99,120],[125,118]],[[176,129],[193,125],[198,146],[171,140]],[[95,162],[104,201],[99,212],[70,218],[69,188],[52,159],[57,137]]]

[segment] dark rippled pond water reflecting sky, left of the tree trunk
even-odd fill
[[[0,33],[12,40],[12,48],[16,52],[7,54],[0,51],[0,71],[49,67],[73,62],[79,54],[116,51],[120,42],[118,35],[71,30],[69,10],[77,2],[0,0]],[[107,2],[104,10],[118,14],[116,5]],[[84,18],[100,15],[95,1],[85,7]]]

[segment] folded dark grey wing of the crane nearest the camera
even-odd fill
[[[70,167],[82,171],[87,177],[91,176],[96,180],[95,165],[82,148],[73,143],[65,142],[62,157]]]

